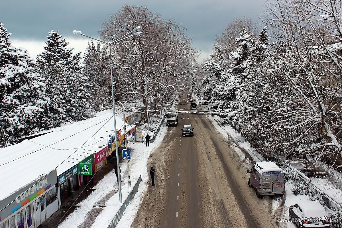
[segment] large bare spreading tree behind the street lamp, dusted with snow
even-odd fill
[[[120,86],[125,88],[117,92],[115,86],[115,93],[142,100],[146,121],[147,97],[151,99],[148,108],[156,110],[169,103],[180,88],[190,87],[197,52],[184,35],[184,28],[146,7],[124,5],[104,23],[101,36],[113,41],[137,26],[142,27],[140,37],[112,45],[114,67],[119,72]]]

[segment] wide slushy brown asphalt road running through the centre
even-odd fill
[[[190,110],[186,98],[179,103],[177,109]],[[193,137],[182,137],[185,124],[193,126]],[[275,223],[273,207],[284,199],[255,196],[246,174],[253,160],[230,137],[216,130],[208,114],[179,115],[178,126],[168,128],[149,159],[146,171],[155,167],[156,186],[147,190],[132,227],[283,226]]]

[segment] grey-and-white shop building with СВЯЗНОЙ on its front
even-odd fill
[[[0,227],[38,227],[59,208],[56,186],[57,175],[54,169],[1,200]]]

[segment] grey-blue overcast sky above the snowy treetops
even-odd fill
[[[13,45],[26,48],[31,56],[43,51],[44,40],[52,29],[59,30],[69,46],[83,54],[88,40],[74,35],[73,30],[97,37],[102,23],[122,5],[147,6],[187,29],[185,33],[193,39],[194,48],[201,51],[200,62],[211,53],[215,36],[234,18],[248,16],[261,23],[263,3],[264,0],[10,0],[1,2],[0,22],[12,33]]]

